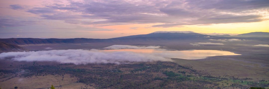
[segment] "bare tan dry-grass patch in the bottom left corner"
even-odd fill
[[[92,86],[76,82],[76,77],[70,78],[70,75],[66,74],[64,77],[55,77],[54,75],[33,76],[31,78],[14,77],[0,82],[0,86],[2,89],[14,89],[15,86],[17,86],[18,89],[47,89],[53,84],[56,89],[80,89],[86,87],[93,89]]]

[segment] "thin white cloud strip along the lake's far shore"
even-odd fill
[[[112,45],[104,49],[158,49],[160,46],[132,46],[132,45]]]

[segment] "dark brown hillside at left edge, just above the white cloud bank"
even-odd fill
[[[1,52],[27,51],[27,50],[28,49],[20,47],[18,45],[0,42],[0,53]]]

